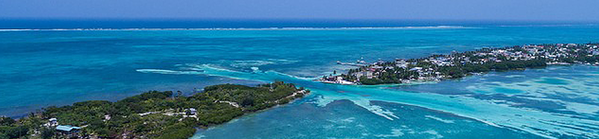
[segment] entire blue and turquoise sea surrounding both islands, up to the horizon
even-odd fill
[[[192,138],[599,138],[599,67],[342,86],[336,61],[599,42],[599,24],[388,20],[0,20],[0,115],[147,90],[286,81],[313,93]]]

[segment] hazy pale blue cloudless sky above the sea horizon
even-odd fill
[[[0,0],[0,18],[599,20],[597,0]]]

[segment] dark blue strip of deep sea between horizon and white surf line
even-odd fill
[[[455,28],[480,26],[595,26],[593,21],[383,19],[0,19],[0,29],[202,28]]]

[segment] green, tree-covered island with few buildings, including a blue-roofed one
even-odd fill
[[[84,101],[47,107],[18,120],[0,117],[4,138],[173,138],[219,125],[246,113],[287,104],[310,93],[276,81],[256,87],[220,84],[203,92],[150,91],[116,102]]]

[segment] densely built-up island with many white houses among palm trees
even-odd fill
[[[547,65],[599,65],[599,45],[538,44],[502,48],[483,48],[449,55],[432,55],[419,59],[395,59],[366,64],[337,62],[356,66],[346,74],[325,75],[317,79],[335,84],[395,84],[414,81],[440,81],[488,71],[524,70]],[[335,71],[336,74],[336,71]]]

